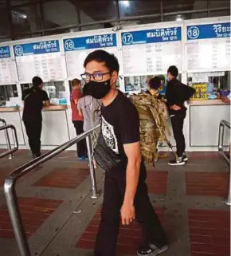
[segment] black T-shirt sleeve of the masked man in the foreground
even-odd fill
[[[139,114],[131,102],[119,116],[119,134],[122,144],[139,141]]]

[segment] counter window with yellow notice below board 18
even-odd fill
[[[196,89],[192,100],[217,100],[230,92],[230,72],[188,73],[187,83]]]

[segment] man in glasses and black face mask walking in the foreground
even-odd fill
[[[100,134],[103,140],[98,140],[98,146],[105,144],[105,152],[117,157],[116,164],[105,170],[104,203],[95,256],[115,256],[119,222],[129,225],[134,219],[142,224],[145,236],[137,254],[155,256],[167,249],[166,235],[147,193],[147,172],[139,143],[139,114],[131,101],[116,90],[119,63],[114,55],[96,50],[88,55],[84,68],[82,78],[88,93],[102,100]]]

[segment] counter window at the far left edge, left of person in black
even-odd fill
[[[16,85],[0,85],[0,107],[18,107],[19,103]]]

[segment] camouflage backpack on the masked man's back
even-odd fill
[[[167,120],[166,104],[163,100],[149,93],[140,93],[130,97],[139,112],[139,132],[141,153],[145,163],[153,163],[158,158],[158,143],[164,143],[172,148],[166,137],[166,131],[170,135]]]

